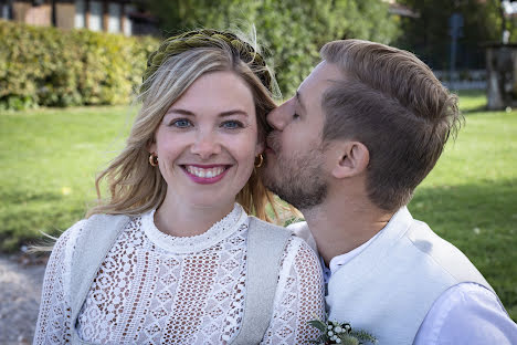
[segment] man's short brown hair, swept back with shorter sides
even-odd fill
[[[462,123],[457,96],[412,53],[360,41],[334,41],[321,58],[344,77],[324,94],[323,138],[368,147],[367,191],[379,208],[407,205]]]

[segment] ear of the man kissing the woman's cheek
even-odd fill
[[[365,144],[344,142],[337,145],[337,163],[331,171],[336,178],[352,177],[363,172],[370,163],[370,153]]]

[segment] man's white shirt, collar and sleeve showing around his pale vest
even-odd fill
[[[303,238],[317,252],[306,222],[287,227]],[[327,268],[320,259],[325,284],[341,266],[359,255],[382,232],[368,242],[335,257]],[[468,344],[511,345],[517,344],[517,324],[509,318],[499,299],[492,291],[476,283],[460,283],[445,291],[428,312],[413,342],[414,345]]]

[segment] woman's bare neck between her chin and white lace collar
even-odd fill
[[[233,210],[234,203],[200,207],[166,198],[155,212],[155,224],[175,237],[192,237],[208,231]]]

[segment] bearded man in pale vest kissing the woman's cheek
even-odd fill
[[[382,345],[517,344],[483,275],[405,208],[460,126],[456,96],[401,50],[347,40],[320,53],[268,115],[264,178],[304,213],[293,229],[328,271],[329,318]]]

